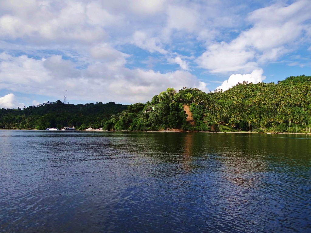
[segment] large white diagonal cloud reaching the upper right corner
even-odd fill
[[[273,4],[251,12],[253,26],[230,42],[216,42],[197,59],[211,73],[250,72],[261,64],[276,61],[298,46],[310,17],[309,1],[291,5]]]

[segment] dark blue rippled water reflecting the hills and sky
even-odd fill
[[[311,232],[311,136],[0,130],[0,232]]]

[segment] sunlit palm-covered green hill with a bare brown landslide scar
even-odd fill
[[[311,76],[275,83],[238,83],[229,90],[203,93],[168,88],[146,104],[136,103],[106,121],[106,130],[310,132]],[[192,112],[186,120],[184,106]]]

